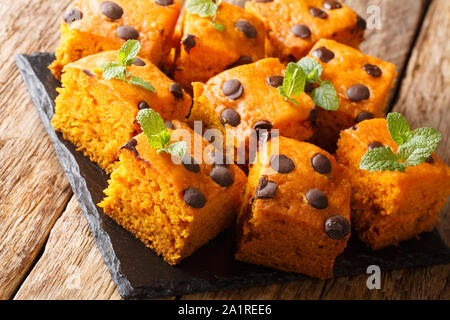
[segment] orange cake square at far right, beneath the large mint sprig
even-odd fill
[[[385,119],[371,119],[341,132],[336,159],[346,166],[353,187],[352,226],[372,249],[396,245],[439,221],[450,195],[450,169],[433,154],[405,172],[360,169],[364,154],[373,148],[397,152]]]

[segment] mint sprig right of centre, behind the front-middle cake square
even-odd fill
[[[284,72],[283,84],[278,87],[280,94],[290,102],[298,104],[293,97],[305,91],[307,82],[317,84],[311,93],[314,103],[325,109],[335,111],[339,108],[336,89],[328,80],[322,80],[322,66],[312,58],[302,58],[297,63],[290,62]]]

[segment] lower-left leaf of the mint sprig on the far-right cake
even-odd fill
[[[362,157],[359,167],[368,171],[401,171],[406,164],[399,162],[398,157],[389,147],[372,149]]]

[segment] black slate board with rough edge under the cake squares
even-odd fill
[[[47,66],[50,53],[17,55],[16,64],[83,210],[111,277],[124,298],[153,298],[266,285],[308,279],[233,259],[233,234],[227,230],[178,266],[171,267],[96,206],[103,199],[108,175],[77,152],[50,125],[56,88],[60,83]],[[450,248],[434,231],[420,239],[373,252],[352,236],[335,263],[335,277],[362,274],[369,265],[382,271],[450,263]]]

